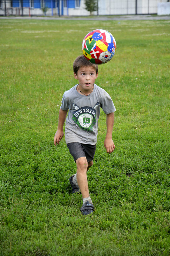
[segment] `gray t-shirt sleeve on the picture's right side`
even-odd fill
[[[105,114],[110,114],[116,111],[113,101],[110,95],[104,90],[100,107],[103,109]]]

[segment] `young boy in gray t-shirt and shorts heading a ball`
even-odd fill
[[[59,110],[58,129],[54,136],[54,144],[59,145],[65,123],[65,141],[77,165],[77,172],[70,177],[72,193],[81,191],[83,215],[94,211],[89,196],[87,171],[93,165],[96,150],[98,119],[100,107],[106,114],[106,136],[104,146],[107,153],[112,153],[115,145],[112,141],[114,111],[116,110],[108,93],[94,82],[98,77],[98,66],[89,62],[83,55],[73,63],[74,78],[78,84],[65,91]]]

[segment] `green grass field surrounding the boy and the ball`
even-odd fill
[[[170,255],[170,21],[0,20],[0,255]],[[96,83],[116,107],[106,154],[105,114],[88,172],[95,212],[72,195],[76,166],[53,144],[72,63],[91,30],[117,42]]]

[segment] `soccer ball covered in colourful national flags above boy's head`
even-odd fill
[[[85,58],[91,63],[104,64],[113,57],[116,41],[108,31],[95,29],[83,39],[82,50]]]

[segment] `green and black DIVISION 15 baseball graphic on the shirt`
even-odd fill
[[[96,110],[92,107],[81,107],[73,112],[72,119],[83,130],[92,132],[96,123]]]

